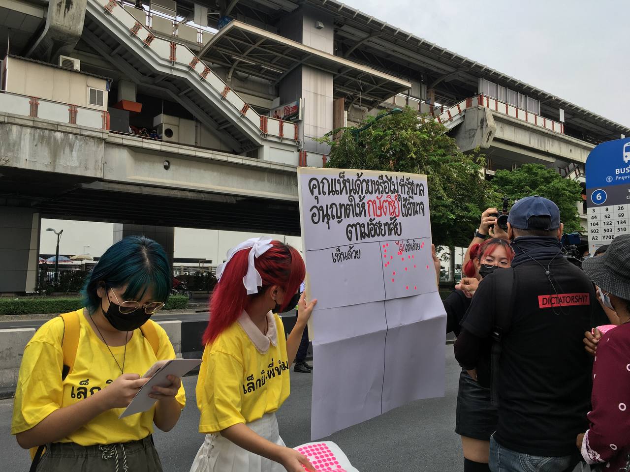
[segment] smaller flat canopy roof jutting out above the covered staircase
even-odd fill
[[[311,48],[270,31],[231,21],[210,40],[200,53],[202,59],[274,84],[301,65],[333,75],[335,98],[355,96],[376,106],[391,96],[411,88],[410,82],[357,64],[348,59]]]

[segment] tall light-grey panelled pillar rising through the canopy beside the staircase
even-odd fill
[[[333,16],[302,6],[280,22],[278,31],[286,38],[332,54],[333,20]],[[304,150],[328,154],[329,147],[313,138],[333,129],[333,74],[301,65],[280,81],[278,89],[281,104],[304,99],[304,121],[300,126]]]

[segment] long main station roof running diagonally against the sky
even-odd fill
[[[187,0],[181,0],[186,3]],[[213,2],[198,0],[215,10]],[[480,64],[435,43],[413,35],[386,21],[336,0],[239,0],[229,3],[229,16],[243,15],[266,25],[277,25],[284,16],[300,6],[311,6],[333,16],[335,48],[347,57],[369,67],[386,70],[401,77],[423,74],[427,85],[434,85],[454,101],[475,94],[479,77],[531,96],[541,101],[542,114],[558,119],[558,109],[565,111],[566,124],[585,140],[605,140],[630,135],[630,127],[597,115],[542,89],[519,81],[508,74]],[[227,65],[227,64],[226,64]],[[229,65],[228,65],[229,67]],[[420,73],[420,74],[419,74]]]

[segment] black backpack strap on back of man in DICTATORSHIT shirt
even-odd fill
[[[500,274],[500,275],[499,275]],[[493,274],[495,289],[495,327],[492,330],[492,348],[490,354],[490,402],[498,405],[498,374],[501,358],[501,342],[510,329],[513,308],[514,269],[501,269]]]

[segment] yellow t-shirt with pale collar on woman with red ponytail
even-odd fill
[[[215,433],[258,420],[289,396],[289,361],[284,326],[267,315],[263,335],[247,313],[205,346],[197,379],[199,432]]]

